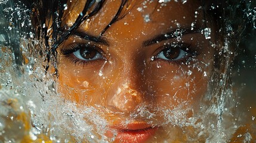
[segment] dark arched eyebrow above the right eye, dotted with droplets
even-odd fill
[[[174,30],[171,30],[171,32],[164,33],[164,34],[161,34],[161,35],[156,35],[152,39],[144,41],[142,43],[142,46],[146,47],[146,46],[150,46],[150,45],[153,45],[153,44],[161,42],[161,41],[176,38],[177,37],[177,36],[175,36],[176,32],[181,32],[182,35],[187,35],[187,34],[190,34],[190,33],[200,33],[201,30],[202,29],[199,29],[199,28],[196,28],[196,27],[194,27],[193,29],[191,29],[191,27],[185,28],[185,29],[174,29]]]

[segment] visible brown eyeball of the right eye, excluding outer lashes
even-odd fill
[[[190,52],[187,52],[186,50],[183,50],[183,49],[184,48],[181,46],[168,45],[166,48],[160,51],[158,55],[155,56],[155,58],[159,58],[167,61],[184,60],[185,58],[189,57],[191,54]]]

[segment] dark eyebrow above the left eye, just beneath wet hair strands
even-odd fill
[[[96,36],[90,35],[86,32],[81,31],[81,30],[75,30],[72,35],[78,36],[79,38],[82,38],[82,39],[85,39],[85,40],[88,40],[88,41],[92,41],[92,42],[95,42],[95,43],[101,43],[102,45],[105,45],[105,46],[110,45],[109,42],[106,41],[106,39],[104,39],[102,37],[96,37]]]

